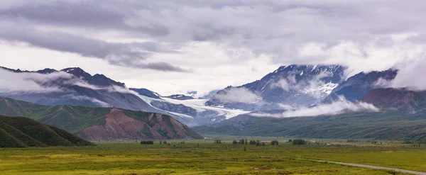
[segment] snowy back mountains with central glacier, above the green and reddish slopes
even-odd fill
[[[171,115],[190,126],[218,123],[251,111],[282,110],[289,106],[313,106],[344,96],[358,101],[369,91],[386,87],[396,70],[359,73],[345,79],[339,65],[290,65],[279,67],[258,81],[202,98],[186,95],[160,96],[148,89],[128,89],[103,74],[93,76],[79,67],[34,72],[1,67],[0,74],[18,81],[0,96],[45,105],[124,108]]]

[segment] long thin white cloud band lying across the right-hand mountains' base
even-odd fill
[[[330,104],[322,104],[312,108],[292,106],[283,106],[287,111],[284,113],[252,113],[256,117],[273,117],[273,118],[292,118],[292,117],[310,117],[319,115],[337,115],[348,112],[378,112],[379,109],[369,103],[357,102],[352,103],[340,97],[339,101]]]

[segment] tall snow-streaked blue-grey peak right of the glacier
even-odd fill
[[[280,108],[278,104],[311,106],[324,100],[345,80],[345,69],[340,65],[279,67],[260,80],[218,91],[206,104],[246,111]],[[241,101],[242,98],[246,99]]]

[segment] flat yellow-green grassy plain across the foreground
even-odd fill
[[[232,145],[232,140],[173,140],[170,145],[96,142],[97,147],[8,148],[0,149],[0,174],[402,174],[305,159],[426,171],[426,147],[279,141],[279,146],[259,147]]]

